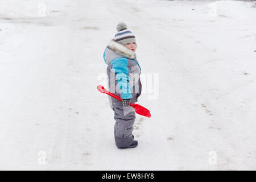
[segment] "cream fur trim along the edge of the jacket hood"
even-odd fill
[[[119,55],[128,57],[129,59],[136,58],[135,52],[131,51],[129,48],[123,46],[122,44],[115,42],[114,40],[110,40],[108,48],[115,53],[118,53]]]

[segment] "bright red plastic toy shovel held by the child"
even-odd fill
[[[113,94],[113,93],[110,93],[108,90],[106,90],[106,89],[104,88],[104,86],[98,85],[98,86],[97,86],[97,89],[98,89],[98,91],[99,91],[100,93],[106,93],[106,94],[108,94],[109,96],[114,97],[114,98],[116,98],[117,100],[119,100],[119,101],[122,102],[122,100],[121,100],[120,97],[118,97],[117,95],[115,95],[115,94]],[[134,108],[134,110],[135,110],[135,112],[136,112],[137,114],[139,114],[139,115],[144,115],[144,116],[146,116],[146,117],[148,117],[148,118],[151,117],[150,110],[146,109],[145,107],[143,107],[143,106],[141,106],[141,105],[139,105],[139,104],[133,104],[133,103],[131,103],[131,106]]]

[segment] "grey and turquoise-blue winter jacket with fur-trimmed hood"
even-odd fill
[[[107,75],[109,92],[116,94],[121,99],[138,101],[141,95],[141,67],[136,59],[136,54],[113,40],[104,51],[104,60],[108,64]],[[122,106],[122,102],[109,96],[110,107]]]

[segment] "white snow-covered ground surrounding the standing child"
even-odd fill
[[[121,21],[152,115],[130,150],[96,89]],[[249,1],[0,0],[0,169],[255,170],[255,22]]]

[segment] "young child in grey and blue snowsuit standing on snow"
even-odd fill
[[[138,146],[134,140],[135,103],[141,95],[141,67],[136,58],[137,44],[133,32],[127,30],[125,23],[117,25],[117,34],[104,51],[104,60],[108,64],[107,74],[109,92],[121,97],[121,101],[109,96],[110,107],[114,111],[114,138],[118,148]]]

